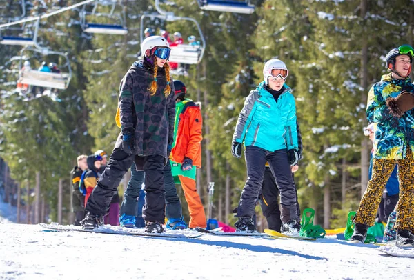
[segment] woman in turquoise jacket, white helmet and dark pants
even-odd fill
[[[280,190],[281,231],[299,234],[297,194],[291,166],[299,161],[295,98],[285,84],[288,68],[283,61],[271,59],[263,68],[264,81],[252,90],[239,114],[233,134],[232,154],[242,157],[246,147],[247,181],[237,208],[239,231],[254,232],[253,214],[262,190],[266,161]]]

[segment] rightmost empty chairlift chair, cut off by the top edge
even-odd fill
[[[233,0],[197,0],[201,10],[210,10],[216,12],[235,12],[239,14],[252,14],[255,6],[249,1],[233,1]]]

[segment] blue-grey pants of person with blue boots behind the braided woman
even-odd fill
[[[121,215],[137,216],[139,207],[138,198],[144,182],[144,171],[135,170],[135,163],[131,166],[131,179],[128,182],[128,187],[125,190],[124,201],[121,204]],[[181,202],[175,188],[174,178],[172,177],[171,164],[167,161],[164,167],[164,188],[166,190],[166,216],[168,219],[181,219]]]

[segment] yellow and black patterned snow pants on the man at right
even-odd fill
[[[364,195],[354,222],[363,223],[367,226],[373,226],[377,209],[380,206],[382,192],[388,178],[398,166],[398,181],[400,182],[400,200],[397,203],[397,221],[396,229],[414,230],[414,160],[411,149],[407,149],[405,159],[373,159],[373,172],[371,180]]]

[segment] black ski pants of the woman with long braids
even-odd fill
[[[121,148],[115,148],[110,156],[108,166],[103,171],[97,186],[95,186],[88,199],[86,210],[96,215],[103,215],[108,212],[113,192],[117,190],[122,177],[124,177],[132,162],[139,158],[135,154],[127,154]],[[166,203],[164,190],[165,159],[158,154],[141,157],[140,160],[142,158],[144,158],[144,172],[146,174],[144,187],[146,197],[142,217],[145,221],[164,223]]]

